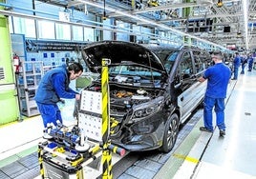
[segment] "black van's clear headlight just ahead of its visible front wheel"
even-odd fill
[[[163,97],[160,96],[159,98],[156,98],[147,103],[139,104],[138,106],[133,108],[134,112],[132,114],[132,120],[137,121],[141,118],[144,118],[156,113],[160,109],[162,103],[163,103]]]

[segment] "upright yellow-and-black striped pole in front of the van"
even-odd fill
[[[108,65],[109,59],[102,59],[102,71],[101,71],[101,92],[102,92],[102,179],[112,179],[112,153],[108,149],[110,145],[109,133],[110,133],[110,116],[109,116],[109,83],[108,83]]]

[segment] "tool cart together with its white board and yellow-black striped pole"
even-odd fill
[[[101,93],[83,90],[78,125],[69,129],[61,124],[46,129],[47,140],[38,144],[38,159],[42,178],[83,179],[83,167],[102,158],[102,179],[112,179],[112,152],[121,156],[124,149],[111,144],[109,117],[108,65],[102,59]]]

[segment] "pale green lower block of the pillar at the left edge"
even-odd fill
[[[0,126],[18,119],[18,105],[15,90],[5,90],[0,93]]]

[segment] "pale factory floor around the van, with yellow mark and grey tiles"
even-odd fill
[[[199,130],[203,126],[203,109],[199,109],[182,127],[169,153],[132,152],[123,158],[114,154],[114,178],[256,179],[255,101],[256,70],[245,71],[228,86],[224,137],[219,136],[219,129],[213,133]],[[74,122],[65,120],[64,125]],[[42,128],[40,116],[0,127],[0,178],[40,178],[37,144],[42,140]],[[100,168],[85,172],[85,178],[100,178]]]

